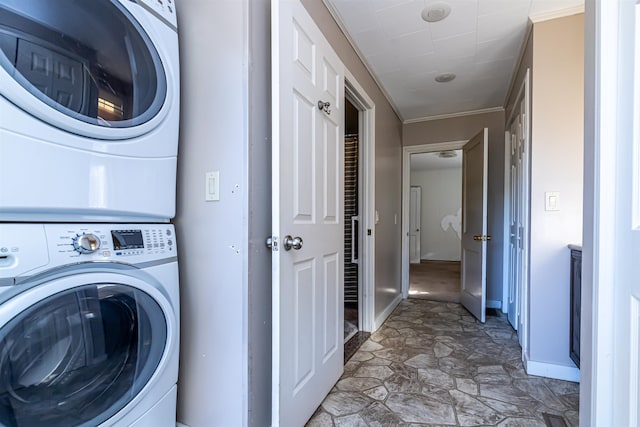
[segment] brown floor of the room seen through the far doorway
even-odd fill
[[[423,260],[410,264],[409,298],[460,302],[460,262]]]

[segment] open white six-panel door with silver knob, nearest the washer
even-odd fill
[[[302,426],[343,371],[344,69],[297,0],[272,66],[272,425]]]

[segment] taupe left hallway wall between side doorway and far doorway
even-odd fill
[[[375,103],[375,317],[401,293],[402,123],[320,0],[302,0],[333,49]],[[396,221],[397,219],[397,221]]]

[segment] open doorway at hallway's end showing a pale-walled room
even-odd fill
[[[460,302],[462,150],[410,155],[409,297]]]

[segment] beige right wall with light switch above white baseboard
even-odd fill
[[[569,250],[582,241],[584,15],[534,24],[531,126],[530,359],[569,358]],[[545,211],[545,192],[560,211]]]

